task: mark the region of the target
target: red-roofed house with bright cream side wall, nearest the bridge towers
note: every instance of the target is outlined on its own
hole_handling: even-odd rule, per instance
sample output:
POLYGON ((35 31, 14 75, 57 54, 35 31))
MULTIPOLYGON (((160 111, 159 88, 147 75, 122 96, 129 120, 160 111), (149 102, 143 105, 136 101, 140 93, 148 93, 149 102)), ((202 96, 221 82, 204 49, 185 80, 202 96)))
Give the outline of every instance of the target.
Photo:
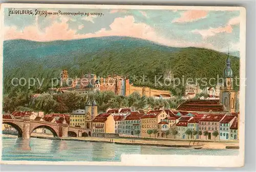
POLYGON ((111 113, 101 113, 92 122, 94 137, 103 137, 105 133, 115 133, 115 120, 111 113))

